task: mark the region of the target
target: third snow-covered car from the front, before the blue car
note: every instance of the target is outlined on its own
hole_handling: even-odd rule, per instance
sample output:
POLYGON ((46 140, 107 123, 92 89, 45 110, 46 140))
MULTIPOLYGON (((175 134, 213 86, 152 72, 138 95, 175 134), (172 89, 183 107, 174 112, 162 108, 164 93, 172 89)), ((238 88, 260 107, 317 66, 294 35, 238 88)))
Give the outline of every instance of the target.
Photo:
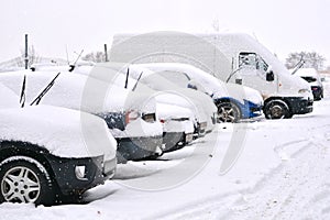
MULTIPOLYGON (((106 64, 107 66, 78 66, 73 72, 74 74, 85 75, 90 78, 100 79, 107 81, 108 84, 114 84, 117 86, 121 86, 128 89, 133 90, 136 80, 130 77, 130 74, 127 74, 128 69, 121 69, 120 64, 106 64), (124 72, 124 73, 123 73, 124 72)), ((177 150, 193 140, 191 138, 196 138, 196 135, 191 132, 191 127, 188 124, 193 124, 195 122, 195 114, 191 112, 191 108, 187 105, 187 100, 180 97, 177 92, 160 92, 155 91, 146 86, 141 89, 142 86, 139 86, 139 92, 147 94, 157 102, 157 119, 163 124, 163 151, 168 152, 173 150, 177 150), (177 105, 179 103, 179 105, 177 105), (185 105, 186 103, 186 105, 185 105), (163 108, 163 107, 172 106, 172 108, 163 108), (176 109, 176 110, 173 110, 176 109), (184 112, 186 112, 186 114, 184 112), (173 127, 173 124, 177 124, 173 127)), ((206 123, 200 123, 201 125, 197 130, 199 134, 205 133, 205 128, 202 127, 206 123)))

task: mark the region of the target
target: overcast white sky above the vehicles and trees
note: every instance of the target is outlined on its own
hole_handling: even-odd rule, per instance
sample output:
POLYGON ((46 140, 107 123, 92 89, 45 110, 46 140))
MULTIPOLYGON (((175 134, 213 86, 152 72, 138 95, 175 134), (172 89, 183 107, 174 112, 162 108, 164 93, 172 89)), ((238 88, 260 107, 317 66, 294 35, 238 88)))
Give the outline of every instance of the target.
POLYGON ((65 58, 67 45, 73 58, 102 51, 114 33, 210 32, 216 19, 280 59, 315 51, 330 65, 330 0, 2 0, 0 62, 20 54, 25 33, 38 55, 65 58))

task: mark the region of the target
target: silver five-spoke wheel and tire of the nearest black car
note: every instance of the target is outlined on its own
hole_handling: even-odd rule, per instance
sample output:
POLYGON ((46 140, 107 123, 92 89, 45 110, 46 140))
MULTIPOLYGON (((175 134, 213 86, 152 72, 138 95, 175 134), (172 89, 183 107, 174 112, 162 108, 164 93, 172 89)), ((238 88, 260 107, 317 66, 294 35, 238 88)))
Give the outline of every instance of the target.
POLYGON ((55 186, 45 167, 34 158, 12 156, 0 163, 0 202, 51 206, 55 186))

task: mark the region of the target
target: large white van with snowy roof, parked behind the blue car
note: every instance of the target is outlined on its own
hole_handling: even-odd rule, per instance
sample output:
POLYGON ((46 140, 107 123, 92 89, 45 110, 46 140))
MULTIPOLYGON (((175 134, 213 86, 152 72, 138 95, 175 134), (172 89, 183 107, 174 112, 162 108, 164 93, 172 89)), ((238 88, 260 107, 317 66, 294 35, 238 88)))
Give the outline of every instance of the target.
POLYGON ((267 119, 312 111, 310 86, 248 34, 155 32, 114 35, 111 62, 187 63, 227 82, 258 90, 267 119))

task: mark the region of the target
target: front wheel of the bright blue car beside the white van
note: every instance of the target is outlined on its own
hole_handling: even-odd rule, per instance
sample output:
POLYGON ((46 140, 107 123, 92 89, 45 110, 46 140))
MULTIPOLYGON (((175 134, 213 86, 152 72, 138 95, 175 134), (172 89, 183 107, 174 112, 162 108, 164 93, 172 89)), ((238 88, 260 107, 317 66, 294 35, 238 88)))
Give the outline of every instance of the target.
POLYGON ((241 119, 240 109, 232 102, 220 102, 217 105, 218 118, 217 122, 229 122, 234 123, 241 119))

